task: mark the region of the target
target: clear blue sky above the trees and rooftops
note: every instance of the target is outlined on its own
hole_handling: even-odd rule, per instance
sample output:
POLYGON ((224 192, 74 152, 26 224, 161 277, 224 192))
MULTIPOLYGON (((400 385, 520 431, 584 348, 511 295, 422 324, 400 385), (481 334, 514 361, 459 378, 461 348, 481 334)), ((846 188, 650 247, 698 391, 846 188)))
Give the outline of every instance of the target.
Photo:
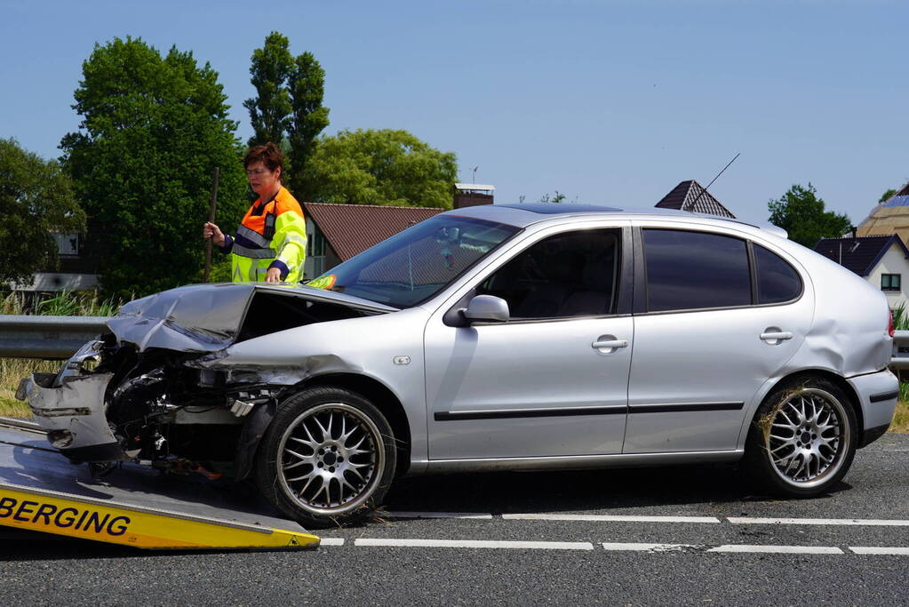
POLYGON ((0 0, 0 137, 45 157, 74 131, 81 65, 132 35, 209 62, 251 134, 253 50, 277 30, 325 68, 329 133, 403 128, 496 202, 558 190, 652 206, 706 185, 748 221, 811 182, 855 224, 909 180, 904 0, 239 3, 0 0))

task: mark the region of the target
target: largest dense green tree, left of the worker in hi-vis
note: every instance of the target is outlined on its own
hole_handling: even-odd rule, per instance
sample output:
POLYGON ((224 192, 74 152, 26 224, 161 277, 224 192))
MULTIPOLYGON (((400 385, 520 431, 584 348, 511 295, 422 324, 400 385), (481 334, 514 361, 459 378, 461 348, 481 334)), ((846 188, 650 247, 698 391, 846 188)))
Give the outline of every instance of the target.
POLYGON ((101 252, 108 294, 149 294, 199 280, 201 226, 215 166, 218 217, 245 211, 236 123, 217 73, 192 53, 162 56, 141 39, 95 45, 75 90, 80 130, 60 147, 101 252))

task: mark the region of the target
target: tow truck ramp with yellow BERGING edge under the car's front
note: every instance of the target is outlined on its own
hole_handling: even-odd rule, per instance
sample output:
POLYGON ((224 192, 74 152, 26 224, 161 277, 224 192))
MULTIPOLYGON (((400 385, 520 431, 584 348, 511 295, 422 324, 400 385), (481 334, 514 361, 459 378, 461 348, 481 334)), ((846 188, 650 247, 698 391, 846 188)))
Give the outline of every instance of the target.
POLYGON ((0 525, 149 549, 300 549, 319 538, 205 479, 125 465, 103 479, 47 447, 33 423, 0 418, 0 525))

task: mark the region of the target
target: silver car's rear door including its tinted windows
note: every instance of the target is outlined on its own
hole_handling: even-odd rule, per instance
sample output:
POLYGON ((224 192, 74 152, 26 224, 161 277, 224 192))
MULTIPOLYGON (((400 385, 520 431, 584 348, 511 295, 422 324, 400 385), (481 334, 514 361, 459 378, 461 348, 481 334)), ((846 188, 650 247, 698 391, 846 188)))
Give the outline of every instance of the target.
POLYGON ((734 450, 814 311, 793 264, 743 236, 644 225, 624 453, 734 450))

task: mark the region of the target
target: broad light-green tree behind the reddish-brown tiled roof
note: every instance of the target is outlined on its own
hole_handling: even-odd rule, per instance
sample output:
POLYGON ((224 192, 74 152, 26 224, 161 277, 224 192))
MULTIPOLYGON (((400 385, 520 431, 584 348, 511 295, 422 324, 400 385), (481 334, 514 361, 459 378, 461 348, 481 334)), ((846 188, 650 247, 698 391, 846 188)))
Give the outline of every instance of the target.
POLYGON ((319 140, 305 178, 315 202, 447 209, 457 160, 407 131, 345 130, 319 140))

